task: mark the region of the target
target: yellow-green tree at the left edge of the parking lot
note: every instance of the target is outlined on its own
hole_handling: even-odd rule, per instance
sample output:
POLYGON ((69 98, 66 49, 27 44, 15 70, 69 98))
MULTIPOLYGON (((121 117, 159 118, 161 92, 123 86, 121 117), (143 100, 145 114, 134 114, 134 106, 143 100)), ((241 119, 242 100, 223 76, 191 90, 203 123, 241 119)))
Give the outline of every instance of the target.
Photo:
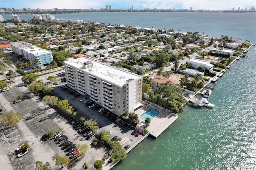
POLYGON ((22 120, 22 114, 20 112, 14 113, 13 110, 10 110, 6 113, 0 115, 1 125, 5 125, 5 127, 9 126, 16 126, 17 123, 20 123, 22 120))

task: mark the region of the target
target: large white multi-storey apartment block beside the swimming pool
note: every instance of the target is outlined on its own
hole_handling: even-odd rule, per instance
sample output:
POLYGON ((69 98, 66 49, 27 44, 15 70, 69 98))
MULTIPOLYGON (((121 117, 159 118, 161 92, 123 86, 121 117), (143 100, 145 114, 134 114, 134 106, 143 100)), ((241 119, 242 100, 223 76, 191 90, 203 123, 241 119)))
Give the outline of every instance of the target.
POLYGON ((122 116, 141 106, 142 76, 85 57, 64 61, 67 85, 122 116))

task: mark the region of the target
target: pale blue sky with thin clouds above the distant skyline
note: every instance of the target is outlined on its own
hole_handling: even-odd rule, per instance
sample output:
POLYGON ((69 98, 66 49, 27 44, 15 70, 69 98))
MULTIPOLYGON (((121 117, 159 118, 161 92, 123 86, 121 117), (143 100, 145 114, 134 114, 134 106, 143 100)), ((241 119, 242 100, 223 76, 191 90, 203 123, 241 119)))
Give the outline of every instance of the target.
POLYGON ((0 8, 31 9, 188 9, 232 10, 256 7, 256 0, 0 0, 0 8))

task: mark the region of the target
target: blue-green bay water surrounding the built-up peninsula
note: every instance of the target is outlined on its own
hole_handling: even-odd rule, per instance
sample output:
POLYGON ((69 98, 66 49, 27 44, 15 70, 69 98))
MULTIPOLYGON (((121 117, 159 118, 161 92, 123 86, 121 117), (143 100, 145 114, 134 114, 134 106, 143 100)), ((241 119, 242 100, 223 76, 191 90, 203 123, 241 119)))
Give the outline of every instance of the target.
MULTIPOLYGON (((210 37, 224 35, 256 43, 255 13, 78 13, 56 14, 55 18, 197 31, 210 37)), ((254 46, 248 57, 235 61, 217 81, 209 98, 216 107, 184 107, 165 132, 157 139, 146 138, 113 170, 256 169, 255 65, 254 46)))

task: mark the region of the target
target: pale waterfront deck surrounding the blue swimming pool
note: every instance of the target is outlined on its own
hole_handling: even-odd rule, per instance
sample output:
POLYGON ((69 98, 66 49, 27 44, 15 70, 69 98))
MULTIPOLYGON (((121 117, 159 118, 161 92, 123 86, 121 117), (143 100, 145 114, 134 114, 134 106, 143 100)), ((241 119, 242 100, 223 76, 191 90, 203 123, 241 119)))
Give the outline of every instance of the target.
POLYGON ((140 115, 142 115, 149 109, 157 109, 158 111, 160 111, 160 113, 150 121, 150 126, 146 128, 149 134, 154 136, 155 138, 157 138, 162 132, 164 132, 164 130, 166 130, 166 128, 174 123, 176 119, 178 119, 178 115, 172 113, 171 111, 155 105, 154 103, 145 101, 144 106, 135 111, 135 113, 139 115, 140 122, 144 122, 144 120, 141 119, 140 115))

